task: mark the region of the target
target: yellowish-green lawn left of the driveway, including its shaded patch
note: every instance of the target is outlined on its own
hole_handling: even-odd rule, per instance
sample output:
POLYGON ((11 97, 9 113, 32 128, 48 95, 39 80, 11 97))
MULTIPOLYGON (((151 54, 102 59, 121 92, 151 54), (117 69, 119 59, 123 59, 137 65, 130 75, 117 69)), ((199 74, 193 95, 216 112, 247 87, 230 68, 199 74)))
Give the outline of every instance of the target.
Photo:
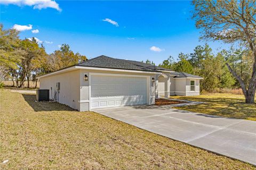
POLYGON ((255 169, 97 113, 0 92, 0 169, 255 169))

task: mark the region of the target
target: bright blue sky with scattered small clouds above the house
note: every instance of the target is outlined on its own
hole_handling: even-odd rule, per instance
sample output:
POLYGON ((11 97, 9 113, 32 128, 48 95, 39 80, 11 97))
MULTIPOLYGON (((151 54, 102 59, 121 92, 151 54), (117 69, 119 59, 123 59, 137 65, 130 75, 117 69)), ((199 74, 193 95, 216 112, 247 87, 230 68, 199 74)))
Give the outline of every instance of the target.
MULTIPOLYGON (((66 43, 88 58, 107 55, 159 64, 205 44, 198 40, 191 10, 190 1, 2 1, 1 23, 5 29, 17 24, 20 38, 38 38, 47 53, 66 43)), ((227 46, 209 44, 214 52, 227 46)))

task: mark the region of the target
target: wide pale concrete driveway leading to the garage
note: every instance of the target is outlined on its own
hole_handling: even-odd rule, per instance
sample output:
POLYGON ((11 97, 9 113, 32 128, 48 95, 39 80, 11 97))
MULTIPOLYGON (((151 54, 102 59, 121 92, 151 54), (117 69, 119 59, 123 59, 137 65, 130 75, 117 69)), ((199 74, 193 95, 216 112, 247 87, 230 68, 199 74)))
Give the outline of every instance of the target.
POLYGON ((94 112, 256 165, 254 121, 181 111, 170 106, 129 106, 94 112))

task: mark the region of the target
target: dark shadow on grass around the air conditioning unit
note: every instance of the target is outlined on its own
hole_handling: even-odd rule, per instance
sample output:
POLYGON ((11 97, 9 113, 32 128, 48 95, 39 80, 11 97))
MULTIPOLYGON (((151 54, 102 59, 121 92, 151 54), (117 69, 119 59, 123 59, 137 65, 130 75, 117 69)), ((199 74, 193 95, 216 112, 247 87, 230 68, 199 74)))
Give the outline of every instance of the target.
POLYGON ((27 101, 29 106, 31 106, 35 112, 42 111, 76 111, 69 106, 59 104, 52 101, 36 101, 36 95, 34 94, 22 94, 23 98, 27 101))

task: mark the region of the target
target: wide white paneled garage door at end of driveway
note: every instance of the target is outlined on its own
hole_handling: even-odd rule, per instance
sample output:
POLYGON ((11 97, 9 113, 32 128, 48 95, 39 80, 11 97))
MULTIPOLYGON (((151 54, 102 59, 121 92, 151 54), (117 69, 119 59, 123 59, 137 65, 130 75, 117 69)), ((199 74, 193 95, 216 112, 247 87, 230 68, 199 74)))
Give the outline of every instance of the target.
POLYGON ((91 109, 147 103, 147 78, 92 75, 91 109))

